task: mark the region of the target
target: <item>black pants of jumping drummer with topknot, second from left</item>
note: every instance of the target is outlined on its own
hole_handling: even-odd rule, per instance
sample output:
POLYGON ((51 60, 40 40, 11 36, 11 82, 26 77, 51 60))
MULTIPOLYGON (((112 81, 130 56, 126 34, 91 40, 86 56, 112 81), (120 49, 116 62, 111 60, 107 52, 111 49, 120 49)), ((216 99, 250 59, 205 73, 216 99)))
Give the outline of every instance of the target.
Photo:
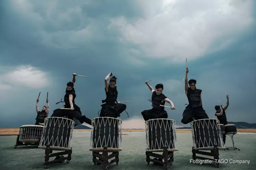
POLYGON ((117 118, 120 117, 120 114, 124 112, 126 109, 126 104, 123 103, 115 103, 114 105, 102 104, 100 117, 112 117, 117 118))

